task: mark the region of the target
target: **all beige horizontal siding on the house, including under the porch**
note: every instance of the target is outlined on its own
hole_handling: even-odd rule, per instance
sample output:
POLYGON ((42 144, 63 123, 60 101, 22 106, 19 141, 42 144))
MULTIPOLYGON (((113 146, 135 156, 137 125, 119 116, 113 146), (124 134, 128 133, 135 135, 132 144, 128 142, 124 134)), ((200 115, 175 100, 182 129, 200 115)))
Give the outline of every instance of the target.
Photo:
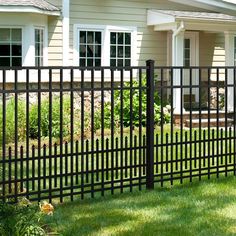
MULTIPOLYGON (((62 0, 50 0, 62 8, 62 0)), ((175 4, 166 0, 71 0, 70 6, 70 64, 73 64, 74 25, 113 25, 137 27, 138 64, 144 65, 154 59, 157 65, 167 65, 167 32, 155 32, 147 26, 147 9, 202 10, 175 4)), ((50 16, 49 25, 49 65, 62 65, 62 19, 50 16)), ((200 32, 200 66, 219 66, 225 64, 224 34, 200 32)), ((212 74, 214 78, 214 73, 212 74)), ((206 73, 204 78, 206 79, 206 73)))

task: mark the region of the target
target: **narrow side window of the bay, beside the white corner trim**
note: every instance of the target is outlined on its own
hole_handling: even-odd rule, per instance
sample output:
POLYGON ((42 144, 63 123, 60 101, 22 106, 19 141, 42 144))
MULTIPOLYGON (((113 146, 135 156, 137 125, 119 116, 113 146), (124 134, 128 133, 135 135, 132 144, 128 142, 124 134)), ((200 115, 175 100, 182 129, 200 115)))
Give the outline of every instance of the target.
POLYGON ((35 66, 43 66, 43 29, 35 29, 35 66))

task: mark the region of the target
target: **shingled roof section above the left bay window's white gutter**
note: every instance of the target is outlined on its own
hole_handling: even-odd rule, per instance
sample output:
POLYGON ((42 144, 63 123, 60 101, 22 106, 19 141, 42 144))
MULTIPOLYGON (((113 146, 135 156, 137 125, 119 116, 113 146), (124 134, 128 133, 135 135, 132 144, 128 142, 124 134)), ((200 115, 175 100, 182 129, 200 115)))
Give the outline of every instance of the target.
POLYGON ((36 10, 42 11, 42 12, 48 12, 48 13, 59 13, 60 9, 56 6, 52 5, 51 3, 48 3, 45 0, 0 0, 0 8, 8 8, 9 10, 13 7, 19 7, 20 8, 26 7, 26 8, 34 8, 36 10))

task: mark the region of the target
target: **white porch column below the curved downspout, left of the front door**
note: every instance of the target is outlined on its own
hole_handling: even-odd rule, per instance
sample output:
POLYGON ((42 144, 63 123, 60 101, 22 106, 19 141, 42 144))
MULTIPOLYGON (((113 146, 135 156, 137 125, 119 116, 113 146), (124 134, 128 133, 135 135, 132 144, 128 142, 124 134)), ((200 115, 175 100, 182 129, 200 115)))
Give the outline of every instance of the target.
MULTIPOLYGON (((183 24, 173 31, 172 35, 172 66, 183 66, 184 64, 184 27, 183 24)), ((181 71, 174 69, 173 71, 173 85, 180 86, 181 83, 181 71)), ((180 114, 181 109, 181 88, 175 88, 173 90, 173 108, 175 114, 180 114)))

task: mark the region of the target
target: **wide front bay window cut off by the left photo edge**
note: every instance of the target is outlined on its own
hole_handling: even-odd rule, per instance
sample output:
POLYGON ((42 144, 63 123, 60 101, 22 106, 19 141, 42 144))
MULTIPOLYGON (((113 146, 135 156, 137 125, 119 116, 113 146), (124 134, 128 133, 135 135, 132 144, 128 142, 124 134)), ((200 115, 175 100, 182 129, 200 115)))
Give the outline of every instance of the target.
POLYGON ((22 66, 21 29, 0 28, 0 66, 22 66))

